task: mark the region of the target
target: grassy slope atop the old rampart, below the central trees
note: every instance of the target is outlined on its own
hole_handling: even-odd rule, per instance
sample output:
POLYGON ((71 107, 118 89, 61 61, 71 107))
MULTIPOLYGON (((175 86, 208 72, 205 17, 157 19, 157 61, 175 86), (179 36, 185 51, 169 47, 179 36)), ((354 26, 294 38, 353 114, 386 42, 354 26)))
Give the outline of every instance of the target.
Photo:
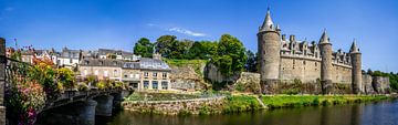
POLYGON ((177 59, 166 59, 167 64, 170 66, 192 66, 195 72, 200 76, 203 76, 201 66, 206 64, 207 60, 177 60, 177 59))

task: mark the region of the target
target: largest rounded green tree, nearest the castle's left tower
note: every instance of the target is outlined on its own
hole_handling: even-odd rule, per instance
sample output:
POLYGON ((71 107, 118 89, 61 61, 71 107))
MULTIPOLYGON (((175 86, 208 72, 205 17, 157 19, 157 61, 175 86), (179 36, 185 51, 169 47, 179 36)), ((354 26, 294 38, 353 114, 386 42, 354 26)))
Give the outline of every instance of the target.
POLYGON ((213 55, 211 62, 216 64, 223 75, 241 72, 247 62, 243 44, 230 34, 221 35, 218 43, 218 54, 213 55))

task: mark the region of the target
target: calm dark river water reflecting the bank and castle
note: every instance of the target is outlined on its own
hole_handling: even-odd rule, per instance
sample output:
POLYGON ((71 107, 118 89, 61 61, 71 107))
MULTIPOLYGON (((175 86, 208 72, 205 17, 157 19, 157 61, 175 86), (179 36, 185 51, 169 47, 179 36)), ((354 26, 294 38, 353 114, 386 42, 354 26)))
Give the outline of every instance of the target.
POLYGON ((398 125, 398 101, 279 108, 228 115, 165 116, 119 112, 97 125, 398 125))

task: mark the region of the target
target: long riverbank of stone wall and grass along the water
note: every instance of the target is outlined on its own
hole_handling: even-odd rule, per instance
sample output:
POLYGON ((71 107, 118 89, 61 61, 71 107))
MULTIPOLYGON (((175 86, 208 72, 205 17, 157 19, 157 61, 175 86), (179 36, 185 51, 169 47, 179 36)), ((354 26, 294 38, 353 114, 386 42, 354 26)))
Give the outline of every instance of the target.
MULTIPOLYGON (((137 95, 135 95, 137 96, 137 95)), ((179 95, 181 96, 181 95, 179 95)), ((391 98, 386 95, 228 95, 175 101, 125 101, 124 110, 165 115, 209 115, 266 108, 327 106, 391 98)))

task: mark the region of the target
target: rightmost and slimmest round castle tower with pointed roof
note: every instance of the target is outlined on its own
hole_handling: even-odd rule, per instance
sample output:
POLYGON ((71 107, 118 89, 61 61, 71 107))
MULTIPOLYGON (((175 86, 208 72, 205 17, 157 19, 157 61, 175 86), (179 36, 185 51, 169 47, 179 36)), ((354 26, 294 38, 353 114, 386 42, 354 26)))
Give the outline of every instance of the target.
POLYGON ((359 49, 356 45, 356 41, 354 39, 353 45, 349 50, 349 55, 352 59, 352 85, 353 85, 353 93, 358 94, 363 90, 360 90, 362 86, 362 53, 359 52, 359 49))

